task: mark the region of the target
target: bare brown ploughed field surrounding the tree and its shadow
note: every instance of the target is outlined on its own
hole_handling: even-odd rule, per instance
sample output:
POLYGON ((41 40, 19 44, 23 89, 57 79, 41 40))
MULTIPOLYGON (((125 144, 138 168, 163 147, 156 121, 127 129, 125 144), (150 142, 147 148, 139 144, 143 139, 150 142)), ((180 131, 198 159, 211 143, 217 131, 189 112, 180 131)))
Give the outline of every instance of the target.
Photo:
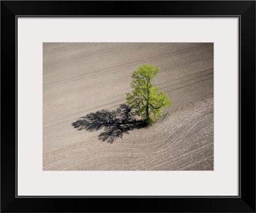
POLYGON ((43 75, 43 170, 214 170, 213 43, 44 43, 43 75), (125 104, 143 64, 173 100, 158 123, 113 143, 72 126, 125 104))

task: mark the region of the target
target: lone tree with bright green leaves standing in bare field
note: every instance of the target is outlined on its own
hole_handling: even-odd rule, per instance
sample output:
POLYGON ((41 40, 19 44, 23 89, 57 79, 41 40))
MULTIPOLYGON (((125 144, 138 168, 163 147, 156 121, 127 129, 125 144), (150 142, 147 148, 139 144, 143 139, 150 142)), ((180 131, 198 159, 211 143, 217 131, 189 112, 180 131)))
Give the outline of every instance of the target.
POLYGON ((171 107, 172 100, 162 90, 152 84, 159 68, 143 65, 135 70, 131 77, 132 93, 126 93, 127 104, 135 109, 143 120, 149 124, 161 117, 164 107, 171 107))

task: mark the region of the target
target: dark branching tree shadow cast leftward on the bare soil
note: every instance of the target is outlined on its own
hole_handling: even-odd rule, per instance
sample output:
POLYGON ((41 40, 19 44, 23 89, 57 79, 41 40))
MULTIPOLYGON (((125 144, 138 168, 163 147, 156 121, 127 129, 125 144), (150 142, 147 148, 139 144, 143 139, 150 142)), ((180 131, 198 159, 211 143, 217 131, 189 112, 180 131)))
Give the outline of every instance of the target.
POLYGON ((72 126, 77 130, 94 132, 103 129, 99 134, 101 141, 113 143, 116 138, 129 134, 129 130, 146 127, 146 123, 137 120, 132 109, 126 104, 121 104, 117 109, 109 111, 102 109, 96 113, 89 113, 79 118, 72 126))

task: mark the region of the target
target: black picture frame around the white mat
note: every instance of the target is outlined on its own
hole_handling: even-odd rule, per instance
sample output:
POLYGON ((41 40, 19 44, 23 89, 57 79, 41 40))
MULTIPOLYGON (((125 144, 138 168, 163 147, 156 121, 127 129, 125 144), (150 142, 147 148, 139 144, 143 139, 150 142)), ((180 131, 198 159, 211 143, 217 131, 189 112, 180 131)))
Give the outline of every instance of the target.
POLYGON ((255 1, 1 1, 1 212, 255 212, 255 1), (17 196, 19 16, 239 17, 239 196, 17 196))

